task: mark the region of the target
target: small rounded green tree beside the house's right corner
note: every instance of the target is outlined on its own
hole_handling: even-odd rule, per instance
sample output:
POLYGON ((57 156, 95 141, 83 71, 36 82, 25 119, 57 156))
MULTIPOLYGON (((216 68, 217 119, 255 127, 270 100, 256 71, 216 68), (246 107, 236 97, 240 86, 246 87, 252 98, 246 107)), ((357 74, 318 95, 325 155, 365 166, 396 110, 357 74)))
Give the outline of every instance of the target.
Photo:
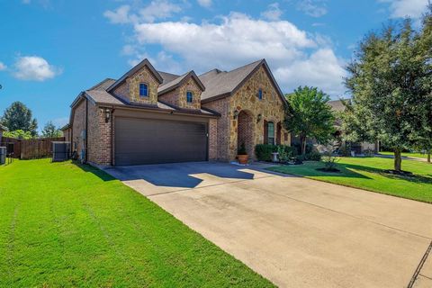
POLYGON ((332 138, 335 118, 328 104, 328 94, 316 87, 300 86, 293 94, 288 94, 288 108, 284 121, 285 128, 302 143, 302 155, 306 154, 308 139, 326 143, 332 138))

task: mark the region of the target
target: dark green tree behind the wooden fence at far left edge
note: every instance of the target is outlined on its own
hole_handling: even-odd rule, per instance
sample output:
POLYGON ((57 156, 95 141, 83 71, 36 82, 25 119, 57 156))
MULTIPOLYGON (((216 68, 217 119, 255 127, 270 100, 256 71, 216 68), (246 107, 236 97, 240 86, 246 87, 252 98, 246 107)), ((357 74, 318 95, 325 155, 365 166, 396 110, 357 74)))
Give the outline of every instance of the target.
POLYGON ((10 131, 29 131, 31 132, 31 136, 36 136, 38 134, 38 121, 31 117, 31 110, 19 101, 12 103, 9 108, 4 111, 0 122, 10 131))

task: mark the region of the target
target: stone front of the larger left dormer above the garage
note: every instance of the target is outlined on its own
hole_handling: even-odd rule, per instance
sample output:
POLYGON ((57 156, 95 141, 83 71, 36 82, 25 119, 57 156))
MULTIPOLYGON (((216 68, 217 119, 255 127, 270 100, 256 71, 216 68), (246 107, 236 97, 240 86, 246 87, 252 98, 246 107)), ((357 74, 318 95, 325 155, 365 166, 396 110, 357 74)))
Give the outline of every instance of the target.
POLYGON ((157 78, 148 67, 142 67, 138 72, 126 78, 125 82, 114 89, 113 94, 130 103, 157 104, 157 78), (139 84, 148 85, 148 96, 139 96, 139 84))

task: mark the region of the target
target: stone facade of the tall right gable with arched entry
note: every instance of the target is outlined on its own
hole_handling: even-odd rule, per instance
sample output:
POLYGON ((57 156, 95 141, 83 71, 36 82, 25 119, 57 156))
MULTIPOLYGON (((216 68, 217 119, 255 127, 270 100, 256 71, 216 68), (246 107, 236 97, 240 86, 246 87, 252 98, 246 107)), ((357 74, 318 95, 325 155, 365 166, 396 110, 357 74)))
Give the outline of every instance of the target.
MULTIPOLYGON (((239 119, 234 119, 235 111, 239 112, 238 115, 245 111, 252 116, 252 121, 245 123, 248 126, 247 129, 252 130, 252 136, 249 136, 253 139, 252 142, 245 143, 249 157, 252 159, 255 158, 253 152, 255 146, 265 142, 265 121, 275 123, 275 139, 277 123, 282 124, 284 121, 284 103, 263 66, 259 67, 257 72, 250 76, 234 95, 204 103, 202 106, 221 114, 218 120, 218 159, 224 161, 234 160, 237 157, 238 144, 241 144, 238 143, 239 119), (263 91, 262 100, 257 97, 259 89, 263 91), (261 114, 260 121, 257 119, 259 114, 261 114)), ((280 141, 283 145, 291 144, 289 133, 284 128, 281 129, 280 141)))

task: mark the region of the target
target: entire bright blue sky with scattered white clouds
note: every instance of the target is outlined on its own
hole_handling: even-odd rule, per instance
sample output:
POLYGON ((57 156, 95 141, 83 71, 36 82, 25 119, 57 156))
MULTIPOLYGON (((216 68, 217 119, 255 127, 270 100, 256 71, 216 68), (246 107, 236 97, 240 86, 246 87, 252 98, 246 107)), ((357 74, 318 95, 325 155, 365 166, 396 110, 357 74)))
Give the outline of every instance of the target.
POLYGON ((358 42, 383 23, 419 21, 428 0, 0 0, 0 115, 14 101, 67 123, 70 103, 141 59, 201 74, 266 58, 284 93, 347 98, 358 42))

